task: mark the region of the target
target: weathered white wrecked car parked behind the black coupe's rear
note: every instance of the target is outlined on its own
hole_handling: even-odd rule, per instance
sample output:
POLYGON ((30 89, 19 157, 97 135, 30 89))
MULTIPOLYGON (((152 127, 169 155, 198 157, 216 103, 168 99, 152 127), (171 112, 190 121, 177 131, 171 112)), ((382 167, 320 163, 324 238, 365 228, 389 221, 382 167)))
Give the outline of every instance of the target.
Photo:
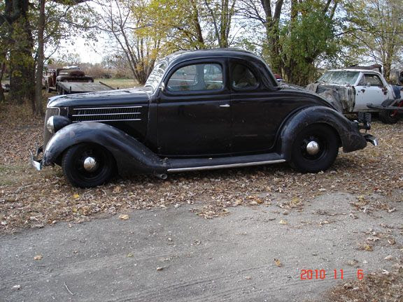
POLYGON ((397 122, 402 112, 402 85, 389 85, 379 71, 365 67, 326 71, 306 89, 323 96, 341 113, 379 113, 386 124, 397 122))

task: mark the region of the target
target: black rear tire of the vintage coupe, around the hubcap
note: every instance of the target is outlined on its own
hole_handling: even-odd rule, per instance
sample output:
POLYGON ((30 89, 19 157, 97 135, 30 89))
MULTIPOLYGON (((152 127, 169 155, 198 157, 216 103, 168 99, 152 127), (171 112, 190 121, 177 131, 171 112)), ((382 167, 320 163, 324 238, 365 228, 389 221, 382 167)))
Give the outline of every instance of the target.
POLYGON ((325 124, 311 124, 302 129, 292 144, 290 165, 302 173, 318 173, 332 166, 339 153, 339 136, 325 124), (315 141, 318 153, 309 154, 306 146, 315 141))

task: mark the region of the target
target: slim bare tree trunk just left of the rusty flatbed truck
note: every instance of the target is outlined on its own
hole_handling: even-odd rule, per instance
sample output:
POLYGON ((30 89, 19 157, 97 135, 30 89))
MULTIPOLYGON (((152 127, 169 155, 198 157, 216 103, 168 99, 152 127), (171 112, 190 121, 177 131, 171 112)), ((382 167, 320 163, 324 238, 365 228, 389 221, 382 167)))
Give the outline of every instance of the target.
POLYGON ((42 75, 43 75, 43 31, 45 31, 45 0, 39 0, 38 20, 38 56, 35 78, 35 106, 36 115, 43 116, 42 75))

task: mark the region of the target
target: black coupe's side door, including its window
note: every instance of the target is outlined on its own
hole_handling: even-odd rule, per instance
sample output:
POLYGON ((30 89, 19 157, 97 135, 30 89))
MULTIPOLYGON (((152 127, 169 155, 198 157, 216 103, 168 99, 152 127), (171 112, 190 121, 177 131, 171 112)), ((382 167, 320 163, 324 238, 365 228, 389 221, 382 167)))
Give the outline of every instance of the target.
POLYGON ((192 60, 176 65, 158 99, 158 150, 167 157, 231 152, 227 59, 192 60))

